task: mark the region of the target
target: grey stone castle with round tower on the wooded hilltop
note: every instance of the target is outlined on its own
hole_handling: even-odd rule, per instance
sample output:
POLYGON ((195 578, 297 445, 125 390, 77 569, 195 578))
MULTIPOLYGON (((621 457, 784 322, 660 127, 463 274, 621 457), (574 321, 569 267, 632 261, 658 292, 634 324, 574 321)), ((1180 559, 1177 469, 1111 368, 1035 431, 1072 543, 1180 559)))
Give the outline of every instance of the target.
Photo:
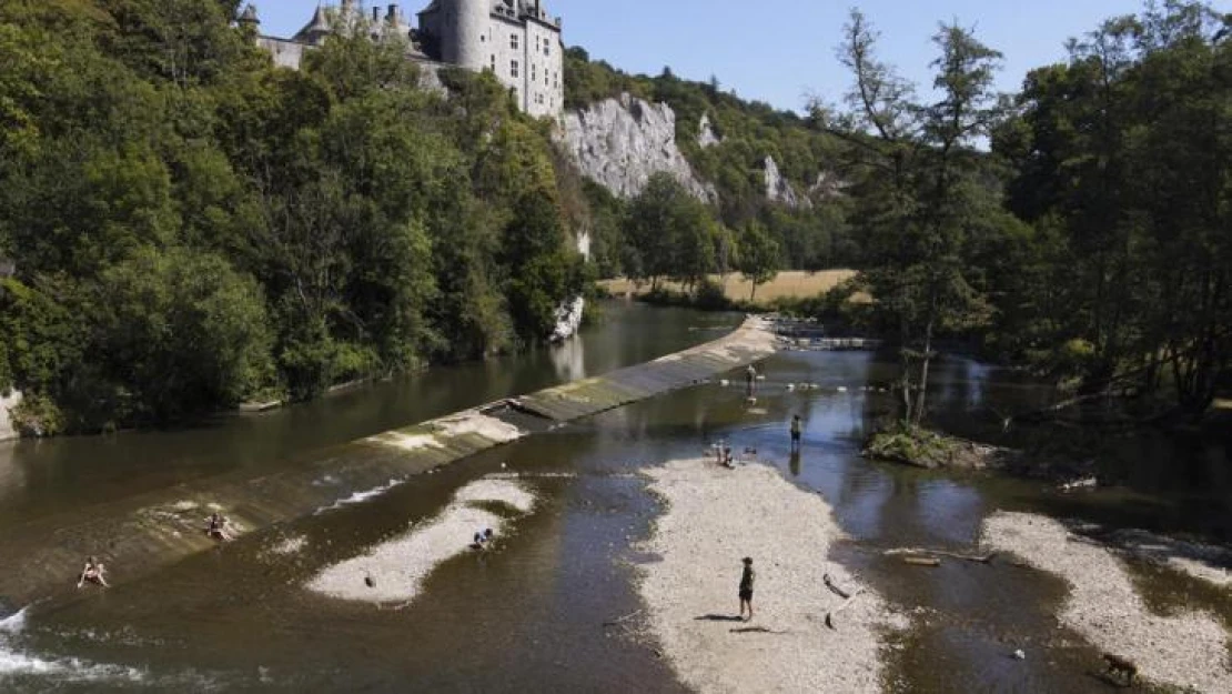
MULTIPOLYGON (((239 20, 259 28, 249 5, 239 20)), ((432 0, 413 28, 398 5, 367 12, 355 0, 333 9, 317 6, 312 20, 291 38, 261 36, 257 44, 277 65, 298 69, 306 51, 339 31, 359 27, 381 41, 408 42, 408 59, 435 73, 441 65, 490 70, 531 116, 559 116, 564 108, 564 44, 561 18, 541 0, 432 0)))

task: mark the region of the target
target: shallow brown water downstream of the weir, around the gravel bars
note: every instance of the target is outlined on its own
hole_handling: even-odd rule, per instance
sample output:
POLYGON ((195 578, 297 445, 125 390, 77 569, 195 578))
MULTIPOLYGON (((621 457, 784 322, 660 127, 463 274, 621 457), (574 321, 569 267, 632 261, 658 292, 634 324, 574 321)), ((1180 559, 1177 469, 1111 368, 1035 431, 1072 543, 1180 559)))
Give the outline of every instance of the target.
MULTIPOLYGON (((1195 531, 1206 521, 1177 499, 1198 492, 1172 478, 1152 491, 1146 481, 1159 477, 1143 473, 1133 492, 1062 497, 1037 482, 865 461, 862 440, 894 407, 888 393, 865 387, 892 380, 894 370, 869 354, 781 354, 763 365, 766 380, 752 408, 733 378, 732 387, 705 385, 609 412, 99 593, 44 615, 22 646, 144 673, 144 683, 106 680, 118 689, 182 690, 191 677, 202 689, 260 692, 684 692, 654 643, 639 636, 638 565, 655 557, 638 542, 662 508, 638 471, 724 441, 738 455, 756 450, 748 457, 824 496, 850 540, 818 561, 850 567, 910 619, 888 653, 890 690, 1101 690, 1099 653, 1057 626, 1066 595, 1060 579, 999 560, 909 567, 885 550, 970 550, 984 518, 1003 508, 1195 531), (787 388, 801 382, 822 387, 787 388), (787 435, 795 413, 804 420, 798 452, 787 435), (492 475, 533 491, 535 512, 510 525, 498 551, 440 566, 409 605, 339 603, 303 589, 320 567, 407 533, 460 487, 492 475), (301 549, 280 553, 288 540, 301 549), (1016 650, 1026 659, 1011 657, 1016 650)), ((934 407, 951 419, 972 407, 1044 397, 965 361, 940 365, 936 383, 934 407)), ((1220 493, 1227 488, 1201 496, 1227 504, 1220 493)), ((469 531, 458 542, 469 542, 469 531)), ((1167 595, 1165 586, 1177 586, 1170 573, 1135 568, 1135 577, 1158 609, 1191 603, 1225 619, 1232 613, 1196 584, 1181 584, 1183 598, 1167 595)), ((719 611, 695 619, 739 621, 719 611)), ((760 629, 733 624, 732 632, 760 629)), ((46 684, 34 678, 10 689, 46 684)), ((64 685, 74 688, 90 690, 64 685)))

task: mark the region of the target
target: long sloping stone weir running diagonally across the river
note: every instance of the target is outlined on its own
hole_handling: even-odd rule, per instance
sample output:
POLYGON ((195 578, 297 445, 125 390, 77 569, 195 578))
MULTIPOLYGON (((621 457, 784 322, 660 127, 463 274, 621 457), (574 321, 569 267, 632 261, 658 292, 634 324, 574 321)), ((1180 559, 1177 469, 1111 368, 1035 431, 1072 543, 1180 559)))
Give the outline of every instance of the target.
POLYGON ((509 398, 404 429, 326 449, 290 470, 184 483, 14 528, 0 536, 0 600, 63 604, 86 557, 122 583, 209 550, 203 519, 223 513, 244 534, 354 499, 355 489, 392 488, 416 475, 601 412, 705 382, 775 351, 768 322, 749 318, 733 333, 611 374, 509 398))

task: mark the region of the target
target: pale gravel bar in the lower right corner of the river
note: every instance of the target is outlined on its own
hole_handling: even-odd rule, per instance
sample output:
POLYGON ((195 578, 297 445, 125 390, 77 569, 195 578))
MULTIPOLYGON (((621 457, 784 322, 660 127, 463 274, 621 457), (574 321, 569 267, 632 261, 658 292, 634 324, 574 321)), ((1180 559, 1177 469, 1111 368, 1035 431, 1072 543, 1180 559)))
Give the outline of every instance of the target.
POLYGON ((1230 634, 1207 613, 1151 611, 1108 547, 1042 515, 998 513, 984 523, 987 549, 1010 552, 1069 584, 1060 621, 1096 647, 1127 658, 1152 682, 1194 692, 1232 692, 1230 634))

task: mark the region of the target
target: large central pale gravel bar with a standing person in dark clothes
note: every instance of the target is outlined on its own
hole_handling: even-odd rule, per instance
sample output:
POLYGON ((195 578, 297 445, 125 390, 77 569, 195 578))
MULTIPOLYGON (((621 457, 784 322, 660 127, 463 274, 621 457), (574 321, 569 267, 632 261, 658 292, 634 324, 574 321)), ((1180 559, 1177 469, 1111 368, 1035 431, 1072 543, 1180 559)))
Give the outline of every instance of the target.
POLYGON ((680 679, 702 692, 881 692, 885 636, 906 623, 844 567, 827 561, 843 537, 830 507, 760 465, 711 460, 646 472, 668 508, 646 550, 649 627, 680 679), (738 614, 740 560, 756 569, 755 618, 738 614), (825 626, 846 592, 864 588, 825 626))

